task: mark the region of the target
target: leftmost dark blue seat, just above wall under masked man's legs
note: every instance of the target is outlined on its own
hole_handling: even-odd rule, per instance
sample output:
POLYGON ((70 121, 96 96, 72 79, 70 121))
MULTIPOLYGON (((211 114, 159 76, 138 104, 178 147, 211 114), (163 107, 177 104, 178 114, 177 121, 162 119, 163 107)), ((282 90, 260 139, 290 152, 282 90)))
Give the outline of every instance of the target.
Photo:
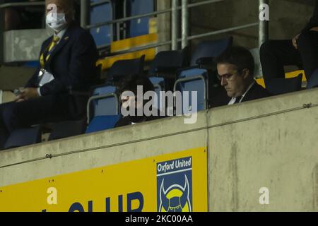
POLYGON ((13 131, 4 145, 5 149, 18 148, 41 142, 41 127, 35 126, 28 129, 13 131))

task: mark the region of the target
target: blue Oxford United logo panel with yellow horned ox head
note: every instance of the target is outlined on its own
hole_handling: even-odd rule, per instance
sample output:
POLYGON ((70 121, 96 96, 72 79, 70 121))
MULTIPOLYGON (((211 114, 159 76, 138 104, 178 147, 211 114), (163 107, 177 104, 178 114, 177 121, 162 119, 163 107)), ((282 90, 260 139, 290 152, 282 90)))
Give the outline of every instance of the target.
POLYGON ((192 157, 157 164, 158 212, 192 212, 192 157))

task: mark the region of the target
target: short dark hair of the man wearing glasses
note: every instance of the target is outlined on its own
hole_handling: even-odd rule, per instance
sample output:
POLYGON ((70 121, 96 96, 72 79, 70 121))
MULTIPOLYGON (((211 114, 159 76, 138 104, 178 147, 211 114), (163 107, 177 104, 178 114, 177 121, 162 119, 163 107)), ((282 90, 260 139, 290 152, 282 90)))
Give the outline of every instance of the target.
POLYGON ((254 58, 244 47, 229 47, 214 60, 216 64, 234 64, 238 71, 249 69, 249 75, 254 77, 254 58))

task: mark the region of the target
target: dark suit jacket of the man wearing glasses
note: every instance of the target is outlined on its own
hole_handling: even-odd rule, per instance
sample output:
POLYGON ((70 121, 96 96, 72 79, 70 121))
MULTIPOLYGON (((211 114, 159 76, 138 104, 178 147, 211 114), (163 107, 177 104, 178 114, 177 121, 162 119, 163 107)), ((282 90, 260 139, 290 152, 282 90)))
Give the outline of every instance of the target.
MULTIPOLYGON (((255 82, 252 88, 250 88, 249 91, 246 93, 242 102, 247 102, 249 100, 257 100, 269 96, 271 96, 271 94, 261 85, 255 82)), ((218 90, 218 94, 215 97, 211 97, 211 100, 209 101, 209 107, 220 107, 228 105, 231 99, 232 97, 228 97, 225 89, 221 87, 220 90, 218 90)))

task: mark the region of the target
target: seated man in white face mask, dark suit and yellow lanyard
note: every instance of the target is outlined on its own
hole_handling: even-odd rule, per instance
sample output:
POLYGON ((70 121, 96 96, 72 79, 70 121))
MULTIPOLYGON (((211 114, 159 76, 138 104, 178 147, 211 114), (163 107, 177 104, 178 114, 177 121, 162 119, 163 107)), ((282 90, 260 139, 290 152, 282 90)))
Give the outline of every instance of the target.
POLYGON ((0 105, 0 149, 16 129, 82 117, 86 102, 69 90, 88 90, 98 59, 93 37, 73 21, 72 0, 47 0, 46 22, 54 35, 45 40, 40 65, 15 102, 0 105), (55 11, 55 12, 54 12, 55 11), (78 105, 77 105, 78 104, 78 105))

